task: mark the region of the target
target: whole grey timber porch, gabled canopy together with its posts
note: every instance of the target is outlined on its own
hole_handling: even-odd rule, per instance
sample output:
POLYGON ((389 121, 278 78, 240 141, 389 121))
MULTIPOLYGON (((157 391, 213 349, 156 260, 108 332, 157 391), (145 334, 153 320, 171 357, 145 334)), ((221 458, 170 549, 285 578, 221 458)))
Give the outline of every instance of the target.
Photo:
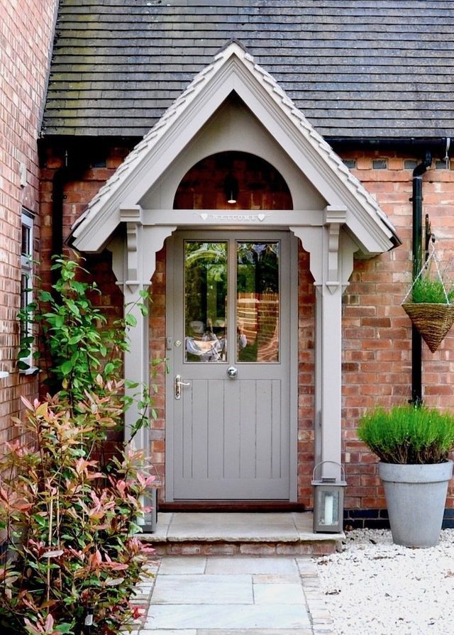
MULTIPOLYGON (((150 285, 155 254, 177 228, 287 229, 310 254, 316 287, 316 460, 341 458, 341 297, 353 255, 371 258, 399 244, 392 223, 275 79, 236 41, 194 77, 74 223, 71 244, 107 248, 133 305, 150 285), (292 210, 173 209, 175 192, 199 160, 247 152, 276 167, 292 210)), ((131 304, 132 303, 132 304, 131 304)), ((149 382, 148 322, 137 311, 125 376, 149 382)), ((126 434, 137 410, 126 415, 126 434)), ((138 443, 148 446, 146 431, 138 443)), ((325 475, 338 475, 333 464, 325 475)))

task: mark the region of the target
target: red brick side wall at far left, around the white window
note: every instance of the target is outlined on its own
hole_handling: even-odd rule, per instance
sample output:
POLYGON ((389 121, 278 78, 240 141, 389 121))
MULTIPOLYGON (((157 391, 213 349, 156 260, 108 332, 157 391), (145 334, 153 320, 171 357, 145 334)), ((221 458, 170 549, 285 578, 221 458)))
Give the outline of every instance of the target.
MULTIPOLYGON (((1 3, 0 19, 0 444, 14 434, 11 415, 20 396, 36 394, 37 380, 16 370, 21 280, 21 209, 38 215, 36 140, 48 74, 57 0, 1 3), (26 167, 21 186, 20 164, 26 167)), ((35 220, 35 248, 39 241, 35 220)))

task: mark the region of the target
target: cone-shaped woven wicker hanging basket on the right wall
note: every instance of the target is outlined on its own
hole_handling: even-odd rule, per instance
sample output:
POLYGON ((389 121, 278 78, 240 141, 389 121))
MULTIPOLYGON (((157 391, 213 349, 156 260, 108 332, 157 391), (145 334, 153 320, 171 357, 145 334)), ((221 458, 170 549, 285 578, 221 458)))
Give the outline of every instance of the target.
POLYGON ((409 316, 432 353, 445 338, 454 322, 454 304, 404 302, 402 308, 409 316))

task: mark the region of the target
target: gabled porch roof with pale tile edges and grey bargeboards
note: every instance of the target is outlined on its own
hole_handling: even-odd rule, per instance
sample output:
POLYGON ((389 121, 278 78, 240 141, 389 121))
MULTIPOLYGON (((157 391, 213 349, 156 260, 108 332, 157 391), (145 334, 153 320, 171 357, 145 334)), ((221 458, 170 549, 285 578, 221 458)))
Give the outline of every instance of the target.
POLYGON ((236 41, 231 41, 194 77, 101 187, 74 223, 72 245, 87 252, 101 250, 121 223, 121 209, 140 204, 140 199, 232 92, 238 94, 282 152, 320 192, 327 206, 345 210, 345 226, 362 255, 382 253, 399 243, 392 223, 375 199, 275 79, 255 64, 236 41))

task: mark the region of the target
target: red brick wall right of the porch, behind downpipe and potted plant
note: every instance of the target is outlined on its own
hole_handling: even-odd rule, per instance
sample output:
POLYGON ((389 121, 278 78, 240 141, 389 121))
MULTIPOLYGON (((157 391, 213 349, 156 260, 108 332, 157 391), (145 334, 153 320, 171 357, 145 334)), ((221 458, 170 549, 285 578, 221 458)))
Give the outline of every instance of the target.
MULTIPOLYGON (((354 174, 397 228, 402 245, 372 260, 355 263, 343 310, 343 449, 347 468, 346 508, 384 508, 376 458, 357 440, 355 428, 365 409, 403 404, 411 398, 411 322, 400 306, 411 286, 412 172, 395 154, 350 153, 354 174), (383 158, 385 169, 373 169, 383 158)), ((429 214, 438 257, 454 273, 454 170, 434 162, 423 176, 423 222, 429 214), (437 169, 435 166, 441 169, 437 169)), ((436 353, 423 343, 423 399, 454 409, 454 331, 436 353)), ((454 490, 449 507, 454 507, 454 490)))

